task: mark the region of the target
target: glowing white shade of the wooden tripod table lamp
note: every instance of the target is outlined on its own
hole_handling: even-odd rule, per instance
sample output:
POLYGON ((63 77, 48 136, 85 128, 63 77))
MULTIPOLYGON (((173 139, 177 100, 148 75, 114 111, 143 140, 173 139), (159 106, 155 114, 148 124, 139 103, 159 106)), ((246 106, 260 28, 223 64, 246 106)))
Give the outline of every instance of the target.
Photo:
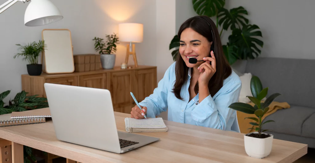
POLYGON ((143 41, 143 24, 121 23, 118 25, 119 41, 141 43, 143 41))

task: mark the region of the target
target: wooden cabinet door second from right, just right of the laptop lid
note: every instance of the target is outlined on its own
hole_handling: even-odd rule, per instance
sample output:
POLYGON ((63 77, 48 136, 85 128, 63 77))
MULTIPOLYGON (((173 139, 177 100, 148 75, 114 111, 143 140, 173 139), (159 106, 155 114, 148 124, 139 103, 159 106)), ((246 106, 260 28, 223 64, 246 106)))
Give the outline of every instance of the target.
POLYGON ((131 112, 131 71, 109 73, 109 91, 112 96, 114 111, 130 114, 131 112))

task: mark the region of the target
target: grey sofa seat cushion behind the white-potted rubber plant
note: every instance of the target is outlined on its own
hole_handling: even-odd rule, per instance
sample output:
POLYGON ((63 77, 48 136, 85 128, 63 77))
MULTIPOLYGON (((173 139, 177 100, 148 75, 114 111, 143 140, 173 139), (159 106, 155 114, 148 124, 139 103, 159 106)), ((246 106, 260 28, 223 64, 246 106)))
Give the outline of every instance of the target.
POLYGON ((291 105, 290 108, 278 110, 275 113, 267 116, 263 120, 263 122, 267 120, 274 120, 275 122, 269 122, 264 124, 262 126, 262 129, 263 130, 270 129, 278 133, 301 136, 302 125, 304 121, 306 121, 306 119, 308 119, 314 113, 315 108, 306 108, 291 105))

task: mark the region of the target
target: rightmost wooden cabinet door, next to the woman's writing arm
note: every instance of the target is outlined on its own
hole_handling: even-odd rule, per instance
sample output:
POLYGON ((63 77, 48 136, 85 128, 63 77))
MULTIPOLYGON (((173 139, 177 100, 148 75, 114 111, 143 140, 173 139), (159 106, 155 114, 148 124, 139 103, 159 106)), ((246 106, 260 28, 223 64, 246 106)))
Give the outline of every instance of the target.
POLYGON ((134 77, 134 94, 138 102, 153 93, 157 87, 156 69, 136 70, 134 77))

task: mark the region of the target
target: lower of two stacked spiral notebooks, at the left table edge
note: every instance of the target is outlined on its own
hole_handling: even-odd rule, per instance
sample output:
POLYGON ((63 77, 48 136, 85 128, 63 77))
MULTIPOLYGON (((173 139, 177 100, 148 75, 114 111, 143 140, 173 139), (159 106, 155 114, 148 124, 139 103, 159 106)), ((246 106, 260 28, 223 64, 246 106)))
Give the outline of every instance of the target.
POLYGON ((25 125, 34 123, 44 123, 45 118, 19 118, 11 119, 11 114, 0 115, 0 127, 3 126, 13 126, 13 125, 25 125))

